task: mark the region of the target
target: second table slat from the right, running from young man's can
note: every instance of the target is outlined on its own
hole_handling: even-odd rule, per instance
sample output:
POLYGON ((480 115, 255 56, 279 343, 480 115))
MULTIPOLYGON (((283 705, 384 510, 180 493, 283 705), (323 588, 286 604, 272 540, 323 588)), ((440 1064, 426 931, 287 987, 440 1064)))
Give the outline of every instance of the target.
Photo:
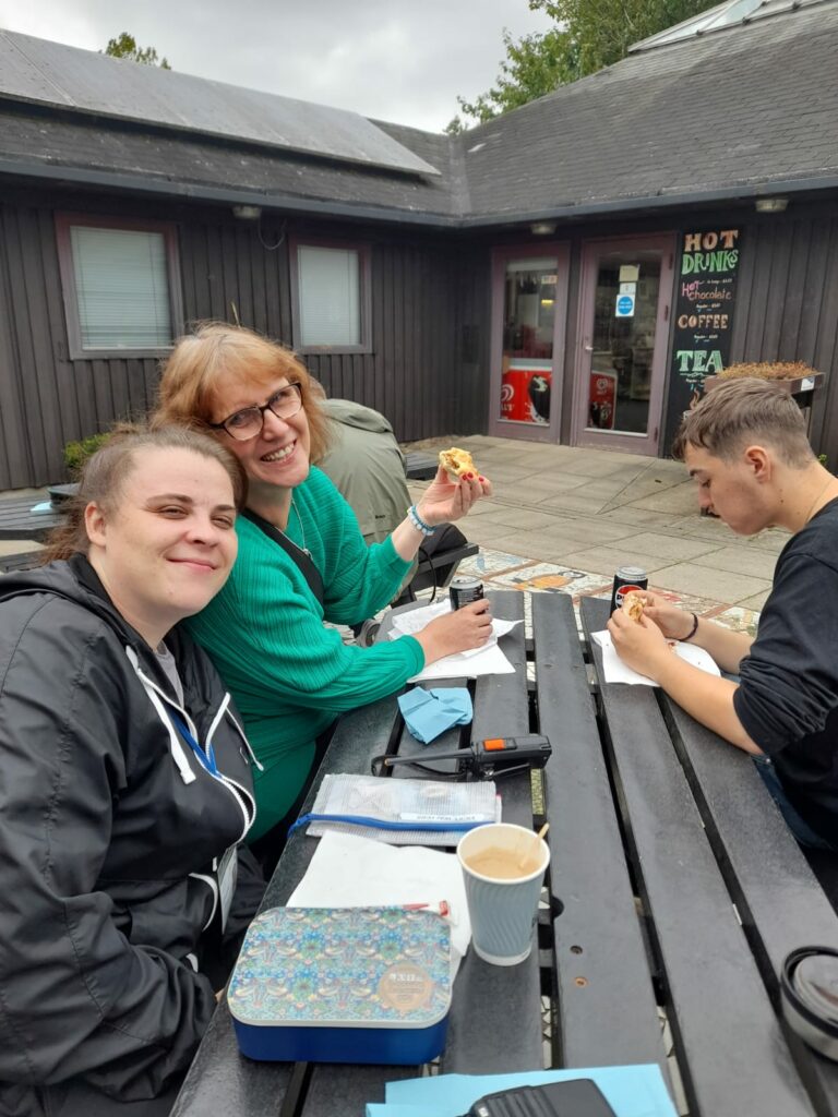
MULTIPOLYGON (((587 632, 607 602, 582 602, 587 632)), ((601 652, 592 649, 601 680, 601 652)), ((655 689, 600 681, 618 799, 669 992, 691 1114, 811 1114, 655 689)))

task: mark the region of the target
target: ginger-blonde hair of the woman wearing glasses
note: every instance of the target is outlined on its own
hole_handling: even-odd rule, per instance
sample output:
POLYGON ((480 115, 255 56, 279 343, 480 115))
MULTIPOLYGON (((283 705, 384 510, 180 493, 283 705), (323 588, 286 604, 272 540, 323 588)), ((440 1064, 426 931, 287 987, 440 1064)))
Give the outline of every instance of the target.
POLYGON ((328 422, 305 365, 284 345, 226 322, 199 323, 193 333, 180 338, 163 367, 152 423, 191 422, 208 428, 215 395, 222 383, 239 380, 270 388, 283 378, 299 384, 308 420, 311 459, 320 461, 328 448, 328 422))

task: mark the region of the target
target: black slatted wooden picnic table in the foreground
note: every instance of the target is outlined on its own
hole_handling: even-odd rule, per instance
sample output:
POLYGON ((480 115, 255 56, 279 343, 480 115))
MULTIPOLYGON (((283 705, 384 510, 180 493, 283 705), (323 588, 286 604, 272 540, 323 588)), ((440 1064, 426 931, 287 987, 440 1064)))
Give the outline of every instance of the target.
MULTIPOLYGON (((489 596, 495 615, 523 617, 524 593, 489 596)), ((838 1065, 785 1028, 778 997, 785 954, 838 944, 838 918, 759 773, 656 688, 602 681, 588 638, 604 626, 607 602, 582 602, 580 640, 569 596, 530 600, 532 638, 518 626, 503 640, 515 674, 470 684, 470 734, 453 729, 420 745, 396 699, 383 699, 341 718, 317 777, 366 774, 382 752, 421 753, 428 764, 469 736, 540 732, 552 742, 543 779, 497 781, 506 821, 550 821, 537 948, 508 968, 469 952, 439 1070, 656 1062, 676 1097, 680 1079, 693 1117, 838 1115, 838 1065)), ((265 907, 287 901, 315 844, 292 836, 265 907)), ((387 1081, 418 1073, 251 1062, 222 1003, 173 1117, 353 1117, 383 1100, 387 1081)))

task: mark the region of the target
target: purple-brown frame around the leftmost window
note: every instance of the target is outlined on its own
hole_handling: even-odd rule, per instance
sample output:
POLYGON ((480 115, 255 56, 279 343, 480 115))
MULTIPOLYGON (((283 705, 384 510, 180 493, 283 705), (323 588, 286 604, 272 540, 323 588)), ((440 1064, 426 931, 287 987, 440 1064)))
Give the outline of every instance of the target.
POLYGON ((183 305, 181 298, 180 256, 178 252, 178 231, 172 222, 145 221, 116 217, 97 217, 88 213, 56 213, 56 240, 58 244, 58 266, 61 276, 64 311, 67 323, 67 341, 70 360, 96 361, 114 357, 158 357, 170 353, 175 338, 183 332, 183 305), (159 232, 163 236, 166 257, 166 279, 169 284, 169 313, 171 318, 172 340, 166 345, 150 349, 115 345, 109 349, 85 347, 82 334, 82 322, 78 313, 78 295, 76 292, 76 274, 73 262, 73 228, 84 226, 92 229, 135 230, 137 232, 159 232))

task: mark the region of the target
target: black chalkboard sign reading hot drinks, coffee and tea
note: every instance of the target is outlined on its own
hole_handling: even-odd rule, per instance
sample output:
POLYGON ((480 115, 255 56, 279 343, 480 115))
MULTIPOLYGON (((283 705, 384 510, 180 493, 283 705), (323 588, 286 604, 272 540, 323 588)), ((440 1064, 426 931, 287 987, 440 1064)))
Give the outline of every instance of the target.
POLYGON ((683 413, 702 395, 704 378, 730 364, 740 232, 710 229, 684 233, 673 323, 667 443, 683 413))

